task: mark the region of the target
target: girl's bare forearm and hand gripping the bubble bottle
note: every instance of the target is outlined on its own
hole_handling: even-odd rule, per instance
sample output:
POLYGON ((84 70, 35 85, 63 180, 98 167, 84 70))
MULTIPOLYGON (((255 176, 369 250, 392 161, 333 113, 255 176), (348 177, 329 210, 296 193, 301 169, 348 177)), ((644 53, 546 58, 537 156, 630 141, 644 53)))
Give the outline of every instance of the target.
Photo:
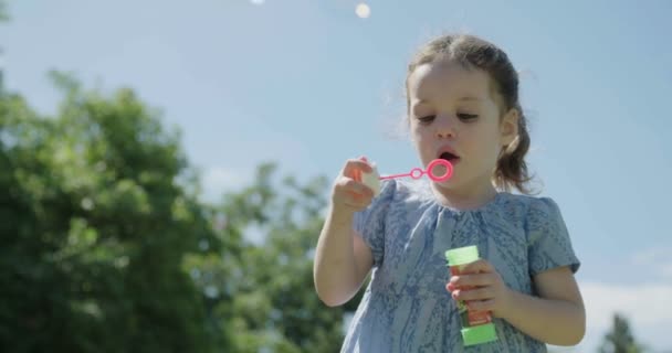
POLYGON ((534 276, 539 297, 514 291, 485 260, 469 265, 448 285, 458 300, 470 300, 470 310, 492 310, 534 339, 555 345, 575 345, 586 332, 586 311, 578 286, 568 267, 534 276), (460 290, 462 286, 477 286, 460 290), (471 301, 473 300, 473 301, 471 301))

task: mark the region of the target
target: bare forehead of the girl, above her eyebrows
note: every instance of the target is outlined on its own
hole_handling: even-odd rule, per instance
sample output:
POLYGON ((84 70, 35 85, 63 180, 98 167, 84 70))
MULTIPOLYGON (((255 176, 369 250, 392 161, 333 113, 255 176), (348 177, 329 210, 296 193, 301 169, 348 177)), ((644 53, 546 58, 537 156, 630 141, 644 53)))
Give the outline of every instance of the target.
POLYGON ((408 94, 416 100, 491 99, 490 77, 479 68, 468 68, 454 61, 419 65, 408 77, 408 94))

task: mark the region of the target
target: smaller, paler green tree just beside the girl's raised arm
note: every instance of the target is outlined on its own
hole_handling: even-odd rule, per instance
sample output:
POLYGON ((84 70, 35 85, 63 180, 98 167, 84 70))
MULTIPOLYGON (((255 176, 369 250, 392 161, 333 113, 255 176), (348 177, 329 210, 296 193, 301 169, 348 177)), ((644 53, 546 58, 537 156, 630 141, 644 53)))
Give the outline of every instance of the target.
POLYGON ((238 333, 232 352, 337 352, 343 314, 355 309, 361 292, 342 308, 328 308, 315 295, 313 254, 324 221, 326 180, 301 185, 292 176, 279 181, 275 170, 273 163, 261 165, 249 186, 223 196, 222 238, 241 247, 223 260, 195 256, 191 266, 210 279, 201 286, 223 288, 212 291, 212 307, 238 333), (262 243, 251 242, 250 234, 262 243))

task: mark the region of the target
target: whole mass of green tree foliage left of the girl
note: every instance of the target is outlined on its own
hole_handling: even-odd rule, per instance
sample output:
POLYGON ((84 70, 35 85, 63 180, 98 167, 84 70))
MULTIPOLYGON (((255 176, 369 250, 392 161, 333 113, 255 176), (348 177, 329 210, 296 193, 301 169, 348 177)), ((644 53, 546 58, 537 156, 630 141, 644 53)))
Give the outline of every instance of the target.
POLYGON ((339 350, 360 297, 314 291, 324 178, 263 164, 204 204, 179 132, 130 89, 51 76, 55 117, 0 97, 1 352, 339 350))

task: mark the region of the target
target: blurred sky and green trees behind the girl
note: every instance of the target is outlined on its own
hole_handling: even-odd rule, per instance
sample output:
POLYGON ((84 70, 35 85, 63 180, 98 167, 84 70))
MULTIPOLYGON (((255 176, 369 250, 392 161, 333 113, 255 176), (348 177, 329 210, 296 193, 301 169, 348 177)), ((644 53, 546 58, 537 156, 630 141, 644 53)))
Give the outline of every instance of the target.
POLYGON ((406 65, 445 32, 521 72, 585 340, 672 352, 672 2, 0 2, 0 351, 337 352, 313 248, 347 158, 418 159, 406 65))

